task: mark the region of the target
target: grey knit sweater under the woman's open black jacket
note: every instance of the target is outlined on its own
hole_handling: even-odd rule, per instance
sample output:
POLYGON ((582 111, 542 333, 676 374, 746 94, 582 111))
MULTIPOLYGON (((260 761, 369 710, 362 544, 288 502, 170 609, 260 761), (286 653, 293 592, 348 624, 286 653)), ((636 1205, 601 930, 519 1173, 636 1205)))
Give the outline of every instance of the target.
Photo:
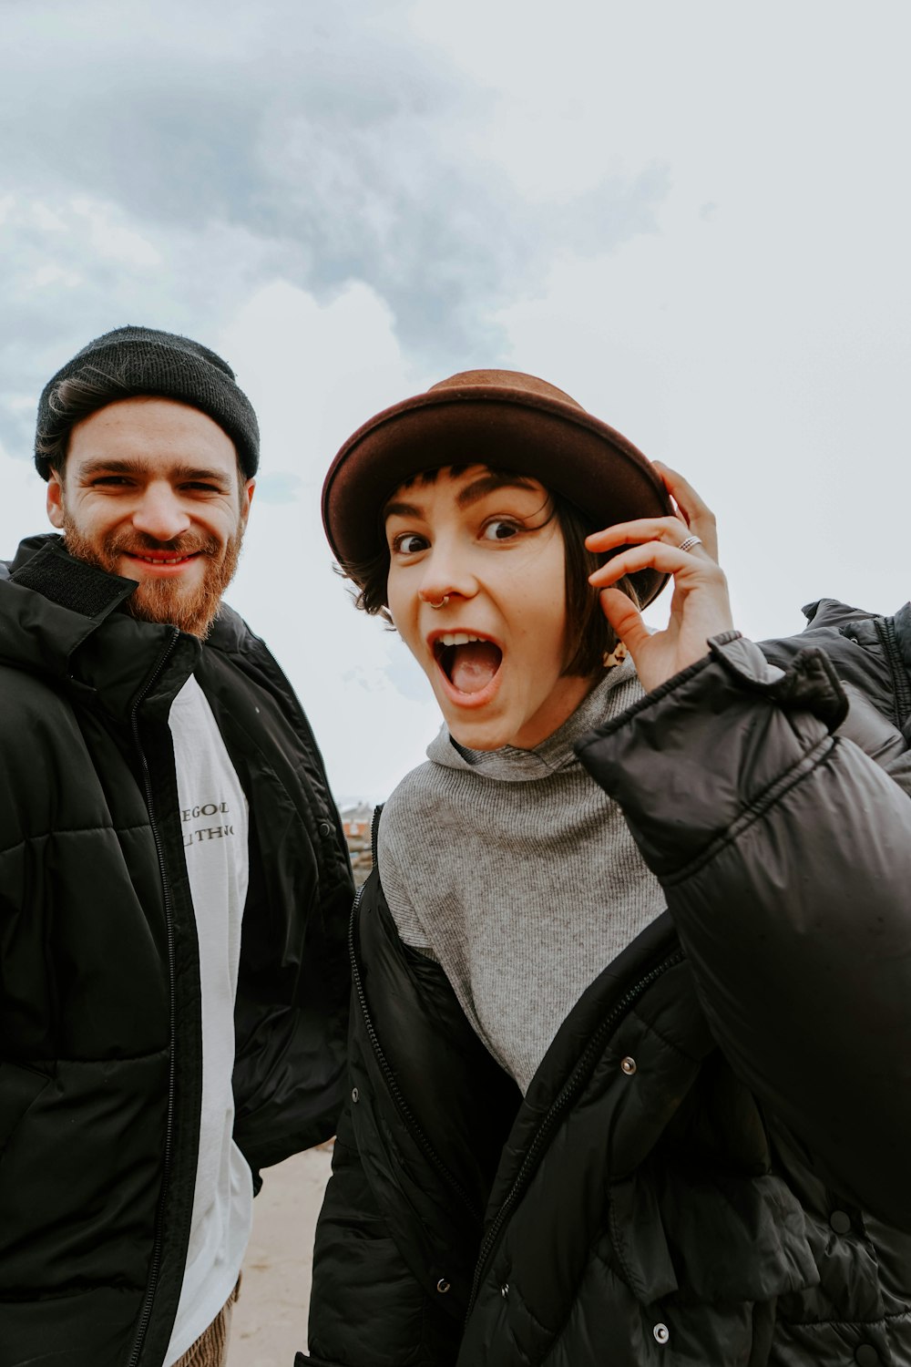
POLYGON ((444 727, 382 812, 380 878, 402 939, 441 964, 523 1092, 585 988, 665 906, 572 749, 639 697, 627 660, 534 750, 464 750, 444 727))

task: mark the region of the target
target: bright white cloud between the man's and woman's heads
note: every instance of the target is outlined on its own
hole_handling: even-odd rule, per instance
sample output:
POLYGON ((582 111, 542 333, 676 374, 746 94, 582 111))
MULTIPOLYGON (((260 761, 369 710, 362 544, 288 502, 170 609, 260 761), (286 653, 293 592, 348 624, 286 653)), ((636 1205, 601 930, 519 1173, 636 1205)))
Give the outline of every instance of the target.
POLYGON ((257 409, 264 480, 299 481, 291 499, 254 496, 228 599, 298 689, 336 794, 381 800, 423 759, 437 709, 397 637, 356 612, 333 574, 320 491, 341 442, 429 380, 412 376, 389 309, 365 284, 320 303, 273 280, 240 305, 217 347, 257 409))

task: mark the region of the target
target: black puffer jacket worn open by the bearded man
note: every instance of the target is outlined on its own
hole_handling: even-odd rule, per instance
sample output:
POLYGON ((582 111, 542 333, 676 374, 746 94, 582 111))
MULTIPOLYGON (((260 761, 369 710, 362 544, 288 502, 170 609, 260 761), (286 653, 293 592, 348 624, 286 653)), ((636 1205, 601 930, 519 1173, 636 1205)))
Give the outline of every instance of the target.
POLYGON ((331 1136, 347 852, 287 681, 228 608, 201 647, 23 544, 0 581, 0 1367, 160 1367, 195 1181, 199 975, 168 711, 195 673, 250 802, 235 1137, 331 1136))

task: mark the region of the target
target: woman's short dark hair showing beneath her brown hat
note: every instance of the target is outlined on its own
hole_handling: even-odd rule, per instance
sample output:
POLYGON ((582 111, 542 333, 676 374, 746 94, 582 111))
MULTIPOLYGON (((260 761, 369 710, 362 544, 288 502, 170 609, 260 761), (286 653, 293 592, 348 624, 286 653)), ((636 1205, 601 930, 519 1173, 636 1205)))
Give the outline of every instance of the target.
MULTIPOLYGON (((449 473, 459 476, 467 466, 451 466, 449 473)), ((503 473, 493 470, 492 473, 503 473)), ((426 470, 415 474, 408 484, 433 484, 438 472, 426 470)), ((549 493, 553 503, 550 518, 557 519, 563 533, 564 566, 565 566, 565 604, 567 604, 567 634, 568 634, 568 663, 563 673, 579 678, 591 678, 602 670, 605 660, 613 653, 617 637, 601 610, 600 593, 589 584, 589 576, 604 562, 594 551, 585 545, 586 536, 600 530, 586 521, 583 514, 568 499, 559 493, 549 493)), ((387 580, 389 577, 389 550, 382 543, 382 550, 363 565, 340 565, 341 574, 356 586, 354 606, 372 617, 381 617, 392 623, 389 615, 387 580)), ((628 577, 623 577, 615 585, 638 607, 639 599, 628 577)))

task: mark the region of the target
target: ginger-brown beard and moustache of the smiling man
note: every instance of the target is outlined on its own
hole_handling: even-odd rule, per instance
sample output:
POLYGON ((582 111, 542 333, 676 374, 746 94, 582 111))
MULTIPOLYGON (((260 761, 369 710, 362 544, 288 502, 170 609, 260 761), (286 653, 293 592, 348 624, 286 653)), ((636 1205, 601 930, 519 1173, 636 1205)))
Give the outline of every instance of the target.
POLYGON ((167 551, 169 555, 198 552, 206 556, 202 582, 191 592, 179 580, 148 578, 137 584, 124 604, 142 622, 169 622, 182 632, 205 640, 219 614, 221 595, 234 578, 240 559, 243 524, 238 524, 236 532, 224 544, 216 537, 199 536, 175 536, 172 541, 156 541, 141 532, 115 533, 98 544, 85 537, 64 510, 63 537, 70 555, 97 565, 108 574, 120 574, 117 562, 127 551, 134 555, 167 551))

